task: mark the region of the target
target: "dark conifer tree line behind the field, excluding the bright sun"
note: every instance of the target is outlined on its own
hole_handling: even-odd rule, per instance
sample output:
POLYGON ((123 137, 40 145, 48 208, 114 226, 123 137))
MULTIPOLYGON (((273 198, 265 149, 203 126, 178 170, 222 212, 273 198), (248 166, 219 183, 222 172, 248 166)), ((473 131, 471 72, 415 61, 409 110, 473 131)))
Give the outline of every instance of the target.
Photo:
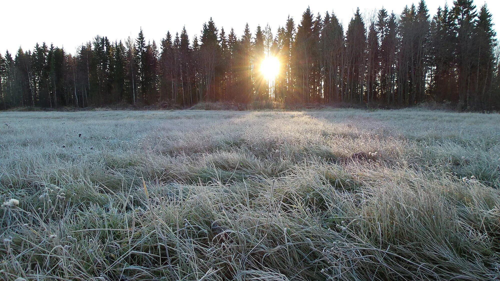
POLYGON ((500 108, 500 65, 486 4, 455 0, 430 18, 423 0, 399 15, 359 8, 347 28, 307 8, 295 24, 246 24, 238 37, 210 18, 189 39, 183 28, 159 45, 96 36, 74 54, 46 43, 0 54, 0 108, 16 106, 190 106, 200 101, 359 103, 449 102, 462 110, 500 108), (280 71, 266 80, 266 56, 280 71))

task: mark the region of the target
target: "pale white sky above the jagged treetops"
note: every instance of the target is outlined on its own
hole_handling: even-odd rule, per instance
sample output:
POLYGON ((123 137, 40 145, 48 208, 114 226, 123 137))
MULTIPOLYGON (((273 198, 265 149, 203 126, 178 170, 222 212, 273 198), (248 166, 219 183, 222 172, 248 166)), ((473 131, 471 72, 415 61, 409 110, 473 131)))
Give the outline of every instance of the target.
MULTIPOLYGON (((452 5, 452 0, 447 2, 452 5)), ((500 1, 474 0, 477 10, 484 2, 498 32, 500 1)), ((36 42, 53 43, 75 53, 79 45, 96 35, 112 41, 124 40, 137 37, 141 27, 146 40, 155 40, 158 45, 167 30, 180 33, 184 25, 191 40, 200 34, 202 24, 210 17, 219 30, 224 27, 226 34, 233 27, 240 36, 246 22, 252 34, 259 24, 262 28, 269 24, 274 33, 285 24, 288 15, 298 24, 307 5, 314 14, 333 11, 346 28, 356 7, 370 18, 381 7, 399 14, 404 5, 411 3, 417 5, 418 0, 5 0, 1 4, 0 53, 5 54, 6 49, 15 53, 19 46, 23 50, 33 49, 36 42)), ((431 17, 445 3, 446 0, 427 0, 431 17)))

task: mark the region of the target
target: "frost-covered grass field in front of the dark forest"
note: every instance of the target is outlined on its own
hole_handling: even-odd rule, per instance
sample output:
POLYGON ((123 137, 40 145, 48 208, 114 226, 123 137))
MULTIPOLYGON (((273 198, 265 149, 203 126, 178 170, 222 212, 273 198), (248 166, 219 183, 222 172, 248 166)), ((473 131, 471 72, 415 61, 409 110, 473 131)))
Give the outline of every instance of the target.
POLYGON ((0 279, 500 278, 499 114, 0 121, 0 279))

